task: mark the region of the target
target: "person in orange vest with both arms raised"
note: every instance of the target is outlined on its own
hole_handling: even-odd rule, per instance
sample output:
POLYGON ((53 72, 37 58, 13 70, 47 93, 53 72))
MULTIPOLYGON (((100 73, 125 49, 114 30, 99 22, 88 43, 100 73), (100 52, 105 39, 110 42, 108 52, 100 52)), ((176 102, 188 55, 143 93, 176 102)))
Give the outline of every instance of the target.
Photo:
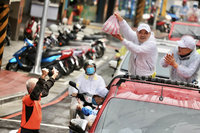
POLYGON ((21 128, 17 133, 39 133, 42 121, 42 109, 40 100, 49 93, 49 89, 54 85, 58 71, 53 68, 53 75, 45 80, 49 70, 42 69, 42 76, 38 79, 31 78, 26 81, 28 95, 22 98, 21 128))

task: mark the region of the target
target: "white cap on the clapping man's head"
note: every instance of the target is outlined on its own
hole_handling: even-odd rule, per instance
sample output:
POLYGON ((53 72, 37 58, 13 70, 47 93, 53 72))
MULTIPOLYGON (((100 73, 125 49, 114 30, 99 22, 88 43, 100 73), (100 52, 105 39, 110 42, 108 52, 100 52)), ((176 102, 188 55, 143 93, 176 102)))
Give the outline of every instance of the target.
POLYGON ((181 48, 189 48, 193 50, 196 47, 195 39, 189 35, 185 35, 181 37, 181 40, 177 42, 178 42, 178 46, 181 48))

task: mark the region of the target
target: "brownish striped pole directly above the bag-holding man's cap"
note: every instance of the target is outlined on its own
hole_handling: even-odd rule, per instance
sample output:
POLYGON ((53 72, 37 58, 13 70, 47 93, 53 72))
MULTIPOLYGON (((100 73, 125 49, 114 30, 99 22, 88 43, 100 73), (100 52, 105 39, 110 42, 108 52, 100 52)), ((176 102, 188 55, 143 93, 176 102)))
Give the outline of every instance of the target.
POLYGON ((140 21, 142 20, 142 15, 144 14, 144 8, 145 8, 145 0, 137 0, 137 7, 136 7, 136 13, 134 18, 134 27, 137 27, 140 21))

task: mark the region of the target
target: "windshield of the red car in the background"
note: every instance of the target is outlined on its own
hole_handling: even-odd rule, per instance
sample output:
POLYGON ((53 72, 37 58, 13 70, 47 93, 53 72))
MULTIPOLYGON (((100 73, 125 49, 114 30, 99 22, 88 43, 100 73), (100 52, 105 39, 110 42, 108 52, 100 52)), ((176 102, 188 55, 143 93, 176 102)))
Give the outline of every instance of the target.
POLYGON ((183 35, 191 35, 200 40, 200 26, 175 24, 171 37, 181 38, 183 35))

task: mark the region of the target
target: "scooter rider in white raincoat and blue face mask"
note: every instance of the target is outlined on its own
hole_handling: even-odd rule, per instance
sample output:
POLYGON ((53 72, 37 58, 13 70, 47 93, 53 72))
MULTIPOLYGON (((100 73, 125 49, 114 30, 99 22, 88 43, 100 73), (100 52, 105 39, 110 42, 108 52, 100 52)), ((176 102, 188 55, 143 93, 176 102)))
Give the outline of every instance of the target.
MULTIPOLYGON (((80 94, 87 93, 89 95, 103 95, 104 97, 108 93, 104 79, 96 74, 96 64, 93 60, 88 60, 84 64, 85 73, 81 74, 76 80, 76 86, 80 94), (98 90, 98 91, 97 91, 98 90)), ((70 106, 70 119, 74 118, 76 115, 77 107, 77 96, 78 90, 70 88, 69 94, 72 97, 70 106)))

